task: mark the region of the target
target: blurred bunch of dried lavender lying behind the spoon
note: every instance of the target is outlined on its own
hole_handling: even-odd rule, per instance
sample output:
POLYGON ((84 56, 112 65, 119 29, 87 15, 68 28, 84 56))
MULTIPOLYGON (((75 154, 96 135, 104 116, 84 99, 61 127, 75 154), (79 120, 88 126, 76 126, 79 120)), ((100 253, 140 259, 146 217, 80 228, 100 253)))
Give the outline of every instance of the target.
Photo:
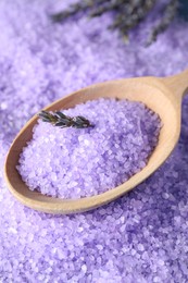
MULTIPOLYGON (((70 9, 52 14, 51 17, 53 22, 59 23, 83 12, 87 13, 90 17, 113 12, 114 23, 109 28, 117 28, 123 36, 127 37, 129 30, 147 17, 155 3, 156 0, 79 0, 71 4, 70 9)), ((156 40, 158 35, 170 26, 177 13, 177 8, 178 0, 170 0, 164 5, 164 16, 161 16, 156 26, 151 27, 151 35, 147 41, 147 46, 156 40)))

